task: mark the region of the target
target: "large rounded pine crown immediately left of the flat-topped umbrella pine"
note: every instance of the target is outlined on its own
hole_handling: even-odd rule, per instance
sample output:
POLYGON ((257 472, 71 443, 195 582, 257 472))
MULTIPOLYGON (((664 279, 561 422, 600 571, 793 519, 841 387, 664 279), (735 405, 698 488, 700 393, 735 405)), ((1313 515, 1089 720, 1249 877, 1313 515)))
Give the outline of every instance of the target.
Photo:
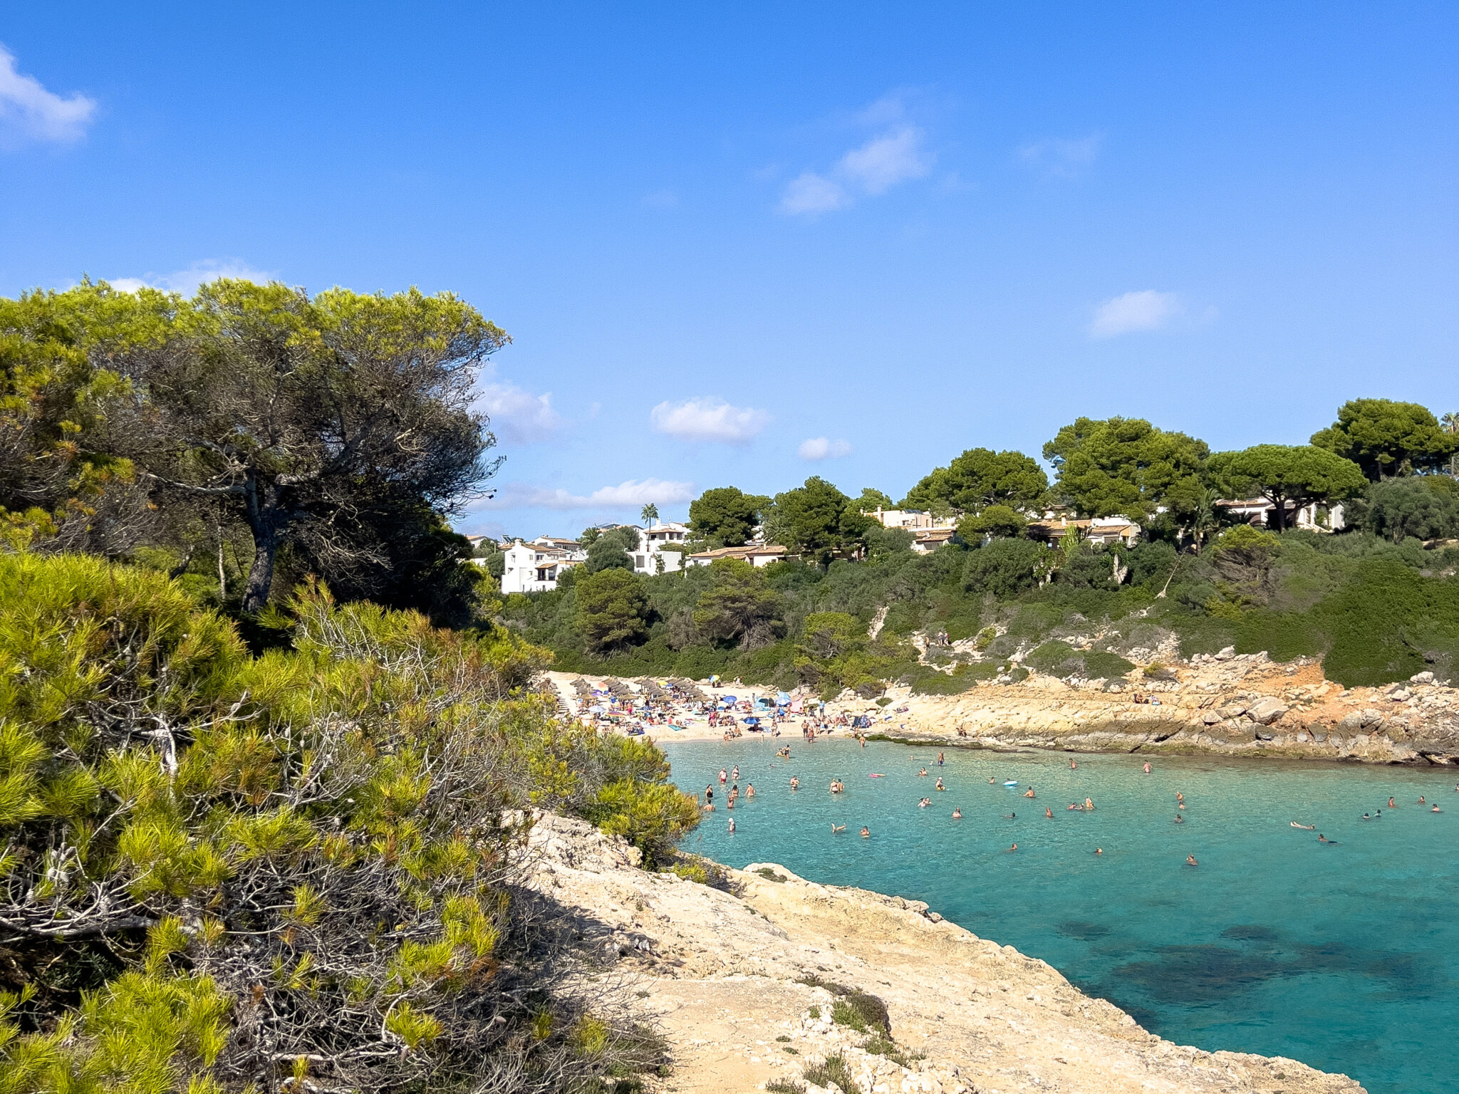
POLYGON ((1144 419, 1077 419, 1043 446, 1055 467, 1055 493, 1083 516, 1148 521, 1158 506, 1192 512, 1211 449, 1144 419))

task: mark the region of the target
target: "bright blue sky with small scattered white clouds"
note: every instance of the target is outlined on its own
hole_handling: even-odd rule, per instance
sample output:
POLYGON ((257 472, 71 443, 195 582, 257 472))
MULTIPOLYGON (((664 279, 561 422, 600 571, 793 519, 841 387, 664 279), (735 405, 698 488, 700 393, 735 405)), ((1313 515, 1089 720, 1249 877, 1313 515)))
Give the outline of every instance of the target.
POLYGON ((0 15, 0 293, 463 295, 463 531, 1459 410, 1452 3, 225 7, 0 15))

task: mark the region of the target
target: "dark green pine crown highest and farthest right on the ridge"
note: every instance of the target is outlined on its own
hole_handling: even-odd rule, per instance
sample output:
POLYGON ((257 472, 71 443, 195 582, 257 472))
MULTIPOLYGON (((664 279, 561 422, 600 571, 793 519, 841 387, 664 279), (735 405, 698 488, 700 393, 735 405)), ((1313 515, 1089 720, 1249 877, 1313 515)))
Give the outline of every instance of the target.
POLYGON ((1459 433, 1418 403, 1355 398, 1342 404, 1336 422, 1312 435, 1312 443, 1351 459, 1376 483, 1444 467, 1459 451, 1459 433))

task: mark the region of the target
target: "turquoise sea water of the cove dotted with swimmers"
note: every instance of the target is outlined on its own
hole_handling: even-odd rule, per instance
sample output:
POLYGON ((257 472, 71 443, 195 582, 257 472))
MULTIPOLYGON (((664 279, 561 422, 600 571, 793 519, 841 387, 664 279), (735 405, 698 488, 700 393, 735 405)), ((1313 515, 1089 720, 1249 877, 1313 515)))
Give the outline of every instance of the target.
POLYGON ((686 850, 925 900, 1182 1044, 1291 1056, 1373 1094, 1459 1093, 1453 770, 1154 759, 1145 775, 1138 756, 1078 756, 1071 770, 1068 754, 953 748, 938 769, 935 748, 789 737, 667 751, 683 789, 715 786, 686 850), (789 761, 775 757, 785 742, 789 761), (756 798, 727 812, 718 773, 734 764, 756 798), (1085 796, 1093 812, 1065 808, 1085 796))

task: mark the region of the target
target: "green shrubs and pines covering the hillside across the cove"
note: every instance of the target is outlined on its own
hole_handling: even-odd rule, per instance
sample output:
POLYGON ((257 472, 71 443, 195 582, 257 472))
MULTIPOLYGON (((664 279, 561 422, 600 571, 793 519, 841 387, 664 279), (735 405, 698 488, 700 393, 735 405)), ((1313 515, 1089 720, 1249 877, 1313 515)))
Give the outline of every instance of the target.
POLYGON ((821 694, 889 681, 951 693, 1029 670, 1112 678, 1137 653, 1224 646, 1322 658, 1344 684, 1447 677, 1459 655, 1453 416, 1354 400, 1336 419, 1310 445, 1215 454, 1148 422, 1078 419, 1043 449, 1052 483, 1021 452, 969 449, 900 503, 957 518, 929 553, 868 516, 890 506, 874 489, 718 487, 690 505, 689 550, 760 528, 797 557, 611 579, 589 562, 550 592, 508 597, 500 618, 565 670, 718 672, 821 694), (1233 513, 1231 499, 1265 499, 1266 522, 1233 513), (1326 518, 1339 505, 1341 531, 1293 527, 1304 506, 1326 518), (1052 541, 1032 538, 1049 512, 1135 519, 1141 537, 1091 543, 1087 522, 1065 522, 1052 541), (937 635, 947 645, 928 642, 937 635))

